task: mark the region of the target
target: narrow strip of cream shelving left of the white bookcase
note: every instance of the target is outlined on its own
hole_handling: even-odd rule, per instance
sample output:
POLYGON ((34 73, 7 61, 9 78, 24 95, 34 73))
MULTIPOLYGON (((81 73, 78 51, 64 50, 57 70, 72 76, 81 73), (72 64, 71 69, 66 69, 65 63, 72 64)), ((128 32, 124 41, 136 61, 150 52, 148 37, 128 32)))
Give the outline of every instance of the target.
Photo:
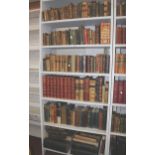
POLYGON ((39 101, 39 19, 40 9, 29 10, 29 132, 30 135, 37 137, 41 135, 39 101))

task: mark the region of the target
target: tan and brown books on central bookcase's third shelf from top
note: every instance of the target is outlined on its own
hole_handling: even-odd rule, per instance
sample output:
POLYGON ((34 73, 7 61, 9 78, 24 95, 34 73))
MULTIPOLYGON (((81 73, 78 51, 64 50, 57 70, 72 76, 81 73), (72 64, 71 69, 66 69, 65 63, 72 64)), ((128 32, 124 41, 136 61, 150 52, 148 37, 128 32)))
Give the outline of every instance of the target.
POLYGON ((44 71, 109 73, 109 54, 93 55, 46 55, 44 71))

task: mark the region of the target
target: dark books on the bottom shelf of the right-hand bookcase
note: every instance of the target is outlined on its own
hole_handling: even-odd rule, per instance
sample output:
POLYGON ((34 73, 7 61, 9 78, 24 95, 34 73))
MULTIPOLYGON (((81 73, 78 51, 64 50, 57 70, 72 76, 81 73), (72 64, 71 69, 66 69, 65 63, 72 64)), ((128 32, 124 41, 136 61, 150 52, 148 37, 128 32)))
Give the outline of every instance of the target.
POLYGON ((111 136, 110 153, 111 155, 126 155, 126 138, 111 136))

